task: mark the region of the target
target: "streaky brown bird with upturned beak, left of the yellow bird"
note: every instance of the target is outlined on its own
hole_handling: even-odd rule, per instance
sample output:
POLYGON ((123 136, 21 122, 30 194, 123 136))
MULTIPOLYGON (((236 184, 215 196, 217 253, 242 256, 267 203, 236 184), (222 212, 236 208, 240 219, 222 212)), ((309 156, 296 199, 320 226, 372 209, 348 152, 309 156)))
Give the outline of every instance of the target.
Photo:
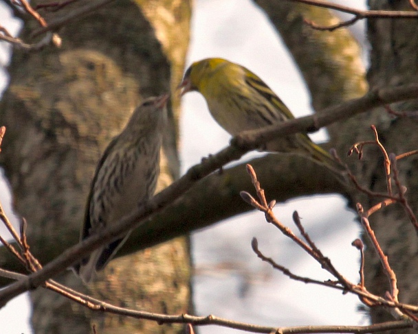
MULTIPOLYGON (((168 95, 151 97, 133 112, 96 167, 80 239, 115 224, 153 196, 159 175, 159 150, 166 123, 168 95)), ((129 236, 94 250, 74 266, 86 283, 102 270, 129 236)))

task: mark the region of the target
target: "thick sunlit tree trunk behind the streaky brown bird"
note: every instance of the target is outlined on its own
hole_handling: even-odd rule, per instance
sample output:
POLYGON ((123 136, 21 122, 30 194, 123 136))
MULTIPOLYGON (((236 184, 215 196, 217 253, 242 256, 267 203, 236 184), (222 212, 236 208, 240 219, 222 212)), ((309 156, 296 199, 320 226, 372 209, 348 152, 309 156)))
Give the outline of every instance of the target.
MULTIPOLYGON (((7 127, 8 136, 0 158, 12 185, 14 207, 28 219, 31 250, 40 258, 45 253, 56 257, 78 241, 98 158, 140 99, 166 93, 180 80, 190 3, 164 2, 148 1, 143 15, 131 1, 115 1, 64 27, 61 49, 14 52, 10 85, 1 103, 0 123, 7 127), (151 5, 155 12, 164 12, 169 22, 147 15, 151 5), (170 45, 174 32, 176 38, 181 34, 181 43, 170 45)), ((26 25, 25 38, 33 27, 32 22, 26 25)), ((179 174, 178 117, 177 109, 170 110, 158 189, 179 174)), ((186 312, 190 307, 188 240, 175 239, 112 261, 88 287, 72 273, 60 280, 115 305, 186 312)), ((31 299, 35 333, 89 333, 92 322, 98 324, 99 333, 182 331, 181 326, 91 313, 43 289, 32 292, 31 299)))

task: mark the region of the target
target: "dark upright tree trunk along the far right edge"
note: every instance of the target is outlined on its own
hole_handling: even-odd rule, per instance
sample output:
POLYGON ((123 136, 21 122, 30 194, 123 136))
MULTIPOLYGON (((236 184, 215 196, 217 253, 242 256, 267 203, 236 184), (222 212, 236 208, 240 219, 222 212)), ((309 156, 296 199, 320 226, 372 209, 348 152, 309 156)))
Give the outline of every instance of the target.
MULTIPOLYGON (((372 10, 411 10, 409 2, 369 1, 372 10)), ((418 25, 410 20, 369 20, 368 36, 371 43, 370 69, 367 78, 371 87, 418 82, 418 25)), ((418 101, 408 101, 391 106, 395 110, 417 110, 418 101)), ((418 122, 408 118, 393 119, 383 108, 369 113, 365 120, 374 123, 379 130, 380 139, 388 152, 400 154, 417 150, 418 122)), ((365 124, 366 125, 366 124, 365 124)), ((382 173, 382 158, 377 150, 369 154, 376 161, 366 174, 365 182, 373 189, 385 189, 386 182, 382 173)), ((370 165, 369 165, 370 166, 370 165)), ((368 167, 369 167, 368 166, 368 167)), ((370 167, 369 167, 370 168, 370 167)), ((418 157, 411 156, 399 162, 399 178, 407 187, 406 196, 412 211, 418 212, 418 157)), ((357 199, 356 199, 357 200, 357 199)), ((371 205, 371 202, 364 202, 371 205)), ((418 302, 418 242, 417 233, 400 206, 391 206, 381 210, 371 219, 377 238, 388 255, 389 263, 397 274, 399 300, 408 303, 418 302)), ((366 283, 373 291, 384 294, 388 289, 388 279, 379 265, 371 248, 366 253, 368 270, 366 283)), ((372 309, 373 322, 391 319, 391 315, 382 309, 372 309)), ((407 331, 401 332, 406 333, 407 331)), ((414 333, 410 330, 408 333, 414 333)), ((393 331, 392 333, 395 333, 393 331)), ((396 331, 399 333, 399 331, 396 331)))

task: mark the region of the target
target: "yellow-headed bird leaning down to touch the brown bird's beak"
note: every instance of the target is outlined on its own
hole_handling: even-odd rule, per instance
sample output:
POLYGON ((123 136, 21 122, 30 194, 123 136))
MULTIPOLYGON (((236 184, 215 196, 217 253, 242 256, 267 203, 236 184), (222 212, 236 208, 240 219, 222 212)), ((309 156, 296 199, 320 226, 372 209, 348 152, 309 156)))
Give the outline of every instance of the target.
MULTIPOLYGON (((292 112, 257 75, 245 67, 221 58, 194 62, 179 84, 181 95, 198 91, 206 99, 212 117, 235 136, 294 119, 292 112)), ((336 161, 304 133, 265 143, 262 150, 308 154, 329 167, 336 161)))

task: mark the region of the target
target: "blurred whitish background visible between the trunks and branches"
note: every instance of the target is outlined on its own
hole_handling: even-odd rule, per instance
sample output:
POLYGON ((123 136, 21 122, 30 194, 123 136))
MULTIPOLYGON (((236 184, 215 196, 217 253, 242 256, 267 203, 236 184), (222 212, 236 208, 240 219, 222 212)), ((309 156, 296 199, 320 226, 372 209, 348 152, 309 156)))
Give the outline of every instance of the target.
MULTIPOLYGON (((344 1, 344 5, 365 6, 360 0, 344 1)), ((12 34, 17 34, 19 22, 12 19, 8 8, 1 2, 0 17, 1 24, 12 34)), ((351 29, 359 43, 366 47, 364 22, 351 29)), ((10 46, 1 43, 1 90, 8 82, 5 67, 9 57, 10 46)), ((227 58, 251 69, 283 99, 296 117, 312 112, 306 86, 292 58, 263 12, 250 0, 195 0, 188 64, 207 57, 227 58)), ((320 131, 311 138, 320 143, 327 140, 327 133, 320 131)), ((228 145, 229 139, 229 134, 212 120, 201 95, 189 93, 183 98, 183 172, 199 163, 201 157, 228 145)), ((244 159, 254 155, 248 154, 244 159)), ((12 217, 12 200, 3 178, 0 200, 6 213, 12 217)), ((267 200, 272 200, 268 194, 267 200)), ((360 230, 354 213, 346 210, 346 203, 340 196, 300 198, 278 203, 274 211, 278 219, 291 228, 294 227, 292 213, 298 211, 306 230, 322 252, 344 276, 353 282, 358 281, 358 251, 351 242, 358 237, 360 230)), ((366 324, 366 316, 357 310, 357 298, 342 296, 339 291, 325 287, 291 281, 257 259, 250 246, 252 237, 259 240, 259 248, 267 257, 272 257, 292 272, 317 279, 330 278, 263 217, 262 213, 256 212, 241 215, 192 235, 193 292, 197 315, 212 313, 222 318, 267 326, 366 324)), ((17 222, 16 218, 14 222, 17 222)), ((3 226, 0 232, 5 235, 3 226)), ((27 296, 14 299, 0 310, 1 333, 32 333, 29 318, 27 296)), ((201 327, 199 332, 238 333, 217 326, 201 327)))

